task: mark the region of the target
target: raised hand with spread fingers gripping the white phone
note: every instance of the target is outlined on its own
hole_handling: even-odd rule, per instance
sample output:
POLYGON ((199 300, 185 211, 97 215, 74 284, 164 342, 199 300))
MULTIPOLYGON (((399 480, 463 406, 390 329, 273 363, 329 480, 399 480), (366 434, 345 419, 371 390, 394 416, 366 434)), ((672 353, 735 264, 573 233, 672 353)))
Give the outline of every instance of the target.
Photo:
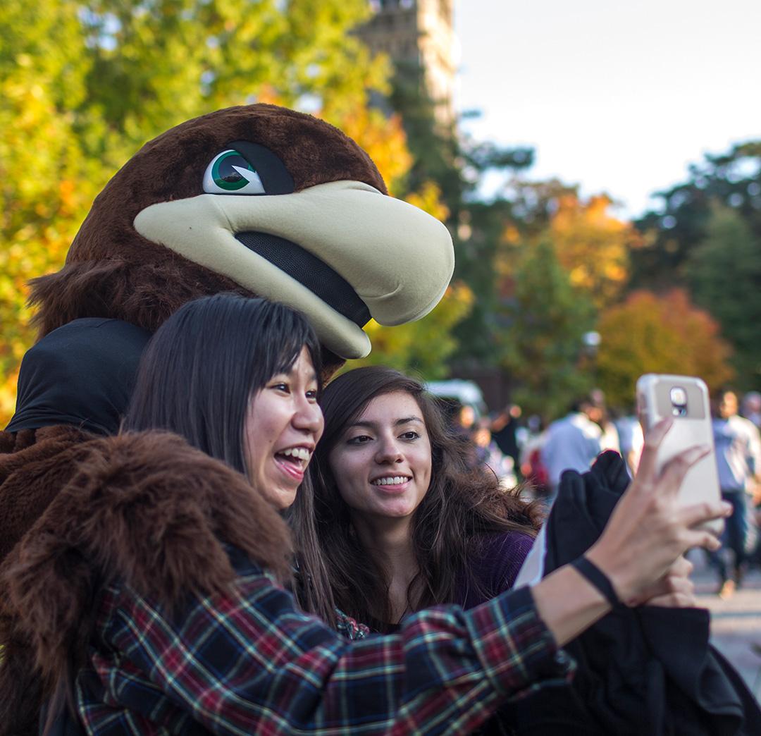
MULTIPOLYGON (((586 555, 610 578, 622 601, 646 600, 659 581, 668 581, 674 562, 691 547, 718 550, 718 539, 695 527, 731 513, 731 505, 725 502, 681 506, 677 500, 684 476, 708 448, 690 448, 656 473, 656 454, 671 423, 665 419, 648 432, 637 477, 586 555)), ((686 591, 663 591, 650 597, 683 594, 686 591)))

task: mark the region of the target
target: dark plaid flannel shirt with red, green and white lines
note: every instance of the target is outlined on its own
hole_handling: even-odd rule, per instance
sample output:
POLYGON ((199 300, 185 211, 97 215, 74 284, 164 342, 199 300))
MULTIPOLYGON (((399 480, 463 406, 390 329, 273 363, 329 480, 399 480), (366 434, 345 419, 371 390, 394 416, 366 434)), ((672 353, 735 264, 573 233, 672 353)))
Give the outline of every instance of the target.
POLYGON ((527 588, 349 642, 233 551, 227 594, 169 612, 127 585, 97 604, 79 716, 91 734, 442 734, 573 671, 527 588))

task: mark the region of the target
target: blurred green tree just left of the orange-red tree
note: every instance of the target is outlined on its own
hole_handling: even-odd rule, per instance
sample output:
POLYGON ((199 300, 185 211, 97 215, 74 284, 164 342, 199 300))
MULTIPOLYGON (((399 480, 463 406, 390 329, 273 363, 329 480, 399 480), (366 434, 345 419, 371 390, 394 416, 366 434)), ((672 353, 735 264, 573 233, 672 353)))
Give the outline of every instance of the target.
POLYGON ((583 355, 594 307, 572 287, 548 240, 525 248, 514 278, 495 349, 517 384, 514 400, 528 413, 559 416, 594 384, 583 355))

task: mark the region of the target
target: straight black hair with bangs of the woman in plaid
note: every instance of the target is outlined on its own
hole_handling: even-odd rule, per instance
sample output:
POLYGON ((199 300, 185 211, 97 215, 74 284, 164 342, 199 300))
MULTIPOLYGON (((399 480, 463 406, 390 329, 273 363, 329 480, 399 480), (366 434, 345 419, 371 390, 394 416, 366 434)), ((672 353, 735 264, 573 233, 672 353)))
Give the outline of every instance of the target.
MULTIPOLYGON (((184 304, 145 349, 123 429, 168 429, 248 474, 243 428, 252 393, 287 372, 306 348, 320 381, 320 343, 307 320, 283 304, 218 294, 184 304)), ((320 384, 321 390, 321 384, 320 384)), ((317 549, 312 486, 296 499, 301 605, 333 623, 333 597, 317 549)), ((297 576, 298 577, 298 576, 297 576)))

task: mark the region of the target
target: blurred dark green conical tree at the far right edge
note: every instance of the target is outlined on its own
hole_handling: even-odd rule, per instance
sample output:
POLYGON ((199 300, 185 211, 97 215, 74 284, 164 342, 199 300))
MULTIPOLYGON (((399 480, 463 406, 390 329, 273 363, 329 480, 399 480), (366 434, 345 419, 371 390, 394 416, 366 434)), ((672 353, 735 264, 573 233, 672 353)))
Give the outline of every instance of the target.
POLYGON ((718 204, 705 229, 687 260, 687 282, 734 346, 738 387, 750 390, 761 386, 761 236, 740 212, 718 204))

